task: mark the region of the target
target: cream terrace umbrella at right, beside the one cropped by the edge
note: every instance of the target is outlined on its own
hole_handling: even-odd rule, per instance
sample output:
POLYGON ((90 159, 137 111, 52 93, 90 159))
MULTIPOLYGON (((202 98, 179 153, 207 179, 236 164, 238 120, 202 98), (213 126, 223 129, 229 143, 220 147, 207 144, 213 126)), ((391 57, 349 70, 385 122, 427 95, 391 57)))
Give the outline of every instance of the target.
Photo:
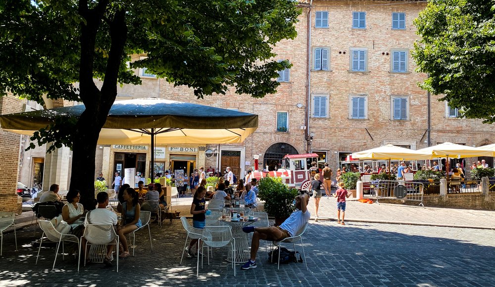
POLYGON ((479 147, 472 147, 462 144, 452 144, 452 143, 443 143, 437 144, 430 147, 425 147, 422 149, 418 149, 418 152, 429 153, 434 157, 445 157, 446 158, 446 180, 448 186, 448 158, 463 158, 463 157, 474 157, 474 156, 493 156, 493 151, 479 147))

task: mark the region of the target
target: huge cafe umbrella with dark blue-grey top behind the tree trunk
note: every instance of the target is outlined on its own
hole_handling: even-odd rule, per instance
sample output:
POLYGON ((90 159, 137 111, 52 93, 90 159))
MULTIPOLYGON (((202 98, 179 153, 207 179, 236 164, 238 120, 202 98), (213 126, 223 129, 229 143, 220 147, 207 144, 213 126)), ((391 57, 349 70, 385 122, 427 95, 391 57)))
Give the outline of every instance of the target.
MULTIPOLYGON (((84 105, 0 115, 0 127, 32 135, 61 117, 77 118, 84 105)), ((233 144, 258 127, 254 114, 162 98, 116 101, 99 134, 98 144, 233 144)), ((151 152, 151 167, 154 152, 151 152)))

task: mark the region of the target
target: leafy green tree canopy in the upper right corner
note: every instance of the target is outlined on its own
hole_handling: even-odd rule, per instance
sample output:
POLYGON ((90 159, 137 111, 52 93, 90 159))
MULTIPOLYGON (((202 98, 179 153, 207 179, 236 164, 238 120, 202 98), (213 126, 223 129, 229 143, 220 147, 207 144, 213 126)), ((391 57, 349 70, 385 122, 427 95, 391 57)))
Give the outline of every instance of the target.
POLYGON ((495 1, 429 0, 414 21, 420 86, 466 118, 495 122, 495 1))

